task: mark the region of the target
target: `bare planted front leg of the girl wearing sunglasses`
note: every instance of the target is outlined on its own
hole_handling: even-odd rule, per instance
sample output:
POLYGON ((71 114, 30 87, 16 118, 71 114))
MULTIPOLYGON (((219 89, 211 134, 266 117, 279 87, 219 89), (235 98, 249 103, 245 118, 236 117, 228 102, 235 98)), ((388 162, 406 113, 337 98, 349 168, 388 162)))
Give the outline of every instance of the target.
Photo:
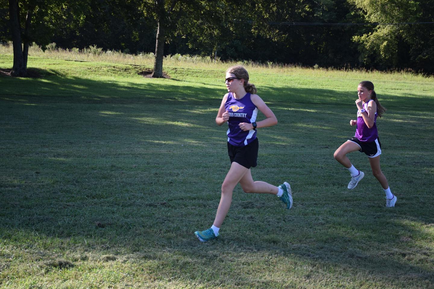
POLYGON ((226 218, 227 212, 229 211, 230 203, 232 202, 233 188, 235 188, 247 173, 250 174, 250 169, 241 166, 237 162, 232 162, 229 172, 227 172, 226 178, 221 185, 220 204, 217 208, 214 226, 220 228, 221 224, 223 224, 224 218, 226 218))

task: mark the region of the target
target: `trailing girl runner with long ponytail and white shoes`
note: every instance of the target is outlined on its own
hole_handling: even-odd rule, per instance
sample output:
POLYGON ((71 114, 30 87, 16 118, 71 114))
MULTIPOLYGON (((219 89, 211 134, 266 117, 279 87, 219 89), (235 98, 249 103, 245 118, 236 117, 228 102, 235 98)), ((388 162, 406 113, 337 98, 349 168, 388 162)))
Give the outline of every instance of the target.
POLYGON ((365 153, 369 158, 372 174, 378 179, 386 194, 386 207, 395 207, 397 198, 391 193, 387 179, 380 168, 381 143, 378 139, 376 121, 377 116, 381 117, 385 112, 385 108, 378 101, 371 81, 360 82, 357 92, 358 99, 355 101, 358 109, 357 120, 350 120, 350 125, 356 126, 355 136, 339 146, 334 157, 349 170, 351 181, 348 189, 352 190, 365 174, 351 164, 346 154, 356 150, 365 153))

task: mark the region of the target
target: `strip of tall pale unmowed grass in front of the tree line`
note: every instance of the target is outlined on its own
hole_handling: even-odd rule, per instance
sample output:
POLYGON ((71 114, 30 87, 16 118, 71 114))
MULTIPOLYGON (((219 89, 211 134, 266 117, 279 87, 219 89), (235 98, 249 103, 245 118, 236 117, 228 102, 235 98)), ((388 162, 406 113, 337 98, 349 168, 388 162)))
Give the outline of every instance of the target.
MULTIPOLYGON (((1 54, 12 54, 12 43, 0 44, 1 54)), ((57 47, 56 43, 51 43, 46 46, 45 50, 41 49, 39 45, 33 43, 29 48, 30 56, 38 56, 43 58, 74 60, 74 61, 89 61, 89 62, 109 62, 127 65, 144 65, 153 67, 155 55, 154 53, 139 53, 130 54, 128 49, 126 51, 116 50, 103 50, 96 45, 90 45, 84 49, 72 48, 62 49, 57 47)), ((393 78, 396 81, 418 81, 422 79, 433 79, 434 76, 427 76, 423 74, 414 74, 409 71, 368 71, 363 68, 321 68, 318 65, 313 67, 303 67, 296 64, 283 64, 273 62, 255 62, 252 60, 244 61, 221 61, 220 58, 213 58, 210 56, 198 55, 167 55, 164 56, 164 67, 184 67, 184 68, 199 68, 205 70, 220 70, 224 71, 232 65, 244 65, 249 68, 249 71, 268 71, 270 74, 283 74, 283 75, 308 75, 311 77, 319 78, 358 78, 358 79, 389 79, 393 78)))

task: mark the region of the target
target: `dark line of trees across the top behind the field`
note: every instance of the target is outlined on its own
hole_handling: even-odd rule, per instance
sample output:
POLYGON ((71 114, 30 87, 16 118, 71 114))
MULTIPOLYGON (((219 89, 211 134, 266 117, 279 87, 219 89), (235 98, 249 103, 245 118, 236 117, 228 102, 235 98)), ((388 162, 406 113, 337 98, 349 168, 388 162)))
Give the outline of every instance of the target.
POLYGON ((434 73, 434 0, 0 0, 0 28, 13 75, 33 42, 434 73))

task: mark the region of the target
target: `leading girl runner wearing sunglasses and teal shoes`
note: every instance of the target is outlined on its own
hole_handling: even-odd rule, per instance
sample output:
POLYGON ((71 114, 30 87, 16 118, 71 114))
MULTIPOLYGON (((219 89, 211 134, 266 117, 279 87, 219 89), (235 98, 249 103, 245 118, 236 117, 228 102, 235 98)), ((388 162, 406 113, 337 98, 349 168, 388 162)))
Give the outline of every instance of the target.
POLYGON ((290 209, 293 205, 291 187, 287 182, 279 185, 279 187, 266 182, 255 182, 250 172, 250 168, 257 165, 256 159, 259 145, 256 138, 256 129, 276 125, 276 116, 256 94, 255 85, 249 83, 249 74, 242 66, 237 65, 227 69, 226 88, 228 93, 223 97, 217 113, 216 123, 219 126, 228 123, 227 152, 231 165, 221 185, 220 204, 212 227, 205 231, 194 232, 201 242, 219 236, 220 226, 232 202, 233 189, 238 183, 246 193, 277 195, 286 204, 287 209, 290 209), (258 110, 266 118, 256 123, 258 110))

